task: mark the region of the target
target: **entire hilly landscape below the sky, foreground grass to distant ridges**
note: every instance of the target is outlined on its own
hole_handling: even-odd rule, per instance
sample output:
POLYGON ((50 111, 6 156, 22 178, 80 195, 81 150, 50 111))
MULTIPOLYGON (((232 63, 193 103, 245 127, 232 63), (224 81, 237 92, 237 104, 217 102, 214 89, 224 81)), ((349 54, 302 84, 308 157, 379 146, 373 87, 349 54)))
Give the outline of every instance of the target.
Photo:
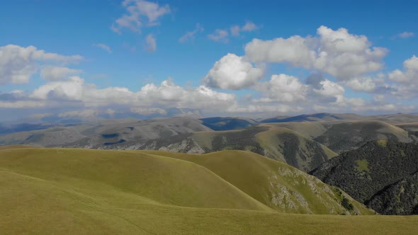
POLYGON ((395 233, 416 227, 417 218, 363 215, 418 214, 417 143, 418 115, 405 114, 4 124, 0 216, 8 219, 0 230, 137 234, 164 220, 170 233, 193 233, 180 219, 227 222, 203 234, 224 226, 252 233, 242 230, 248 223, 266 234, 283 223, 295 233, 333 233, 349 224, 356 224, 352 231, 395 233), (35 215, 52 226, 31 223, 35 215), (295 226, 307 221, 314 230, 295 226))

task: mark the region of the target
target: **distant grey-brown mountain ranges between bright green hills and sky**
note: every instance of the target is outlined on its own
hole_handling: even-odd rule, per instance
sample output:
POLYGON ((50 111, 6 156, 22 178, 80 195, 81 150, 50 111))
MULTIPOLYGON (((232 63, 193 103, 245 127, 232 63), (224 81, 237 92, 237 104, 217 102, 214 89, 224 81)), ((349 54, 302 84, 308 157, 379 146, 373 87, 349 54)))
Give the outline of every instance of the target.
POLYGON ((340 121, 254 125, 254 120, 239 117, 210 117, 203 121, 188 117, 161 120, 101 120, 6 134, 0 136, 0 144, 118 150, 150 149, 194 154, 237 149, 283 161, 308 172, 338 153, 357 149, 369 141, 418 141, 418 132, 414 132, 412 124, 395 126, 375 120, 341 121, 354 117, 351 114, 322 113, 303 117, 305 116, 321 117, 323 120, 332 116, 334 119, 340 118, 340 121), (213 131, 202 122, 213 125, 217 130, 252 126, 240 130, 213 131))

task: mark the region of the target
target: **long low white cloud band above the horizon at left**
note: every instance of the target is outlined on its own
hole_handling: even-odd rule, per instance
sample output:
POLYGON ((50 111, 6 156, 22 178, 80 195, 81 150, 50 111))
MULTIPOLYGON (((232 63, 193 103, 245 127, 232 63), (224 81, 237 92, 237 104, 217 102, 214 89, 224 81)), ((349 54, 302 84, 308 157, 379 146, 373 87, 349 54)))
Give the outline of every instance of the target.
POLYGON ((161 111, 155 108, 195 108, 217 112, 219 108, 226 110, 231 105, 237 105, 235 98, 235 94, 214 91, 207 86, 183 88, 174 84, 172 79, 162 81, 159 85, 146 84, 135 92, 125 87, 96 88, 94 84, 86 84, 79 76, 70 76, 66 81, 48 81, 30 93, 0 93, 0 108, 118 106, 136 108, 136 113, 161 111))

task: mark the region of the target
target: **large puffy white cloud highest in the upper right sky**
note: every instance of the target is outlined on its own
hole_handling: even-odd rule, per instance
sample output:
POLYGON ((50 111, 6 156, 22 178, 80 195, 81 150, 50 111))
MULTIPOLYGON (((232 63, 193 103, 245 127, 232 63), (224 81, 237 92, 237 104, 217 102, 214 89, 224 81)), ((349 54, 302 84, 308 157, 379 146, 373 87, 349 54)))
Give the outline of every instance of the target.
POLYGON ((371 47, 365 35, 350 34, 345 28, 332 30, 321 26, 315 37, 254 39, 245 46, 245 52, 254 62, 289 63, 322 71, 343 81, 382 69, 382 59, 388 50, 371 47))

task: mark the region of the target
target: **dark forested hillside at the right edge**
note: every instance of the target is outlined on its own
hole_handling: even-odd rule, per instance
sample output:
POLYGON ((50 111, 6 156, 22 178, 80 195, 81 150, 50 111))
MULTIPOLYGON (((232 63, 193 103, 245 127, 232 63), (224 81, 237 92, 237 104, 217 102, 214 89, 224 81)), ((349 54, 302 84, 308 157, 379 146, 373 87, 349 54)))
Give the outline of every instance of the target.
POLYGON ((312 171, 382 214, 411 214, 418 207, 418 145, 378 140, 348 151, 312 171))

